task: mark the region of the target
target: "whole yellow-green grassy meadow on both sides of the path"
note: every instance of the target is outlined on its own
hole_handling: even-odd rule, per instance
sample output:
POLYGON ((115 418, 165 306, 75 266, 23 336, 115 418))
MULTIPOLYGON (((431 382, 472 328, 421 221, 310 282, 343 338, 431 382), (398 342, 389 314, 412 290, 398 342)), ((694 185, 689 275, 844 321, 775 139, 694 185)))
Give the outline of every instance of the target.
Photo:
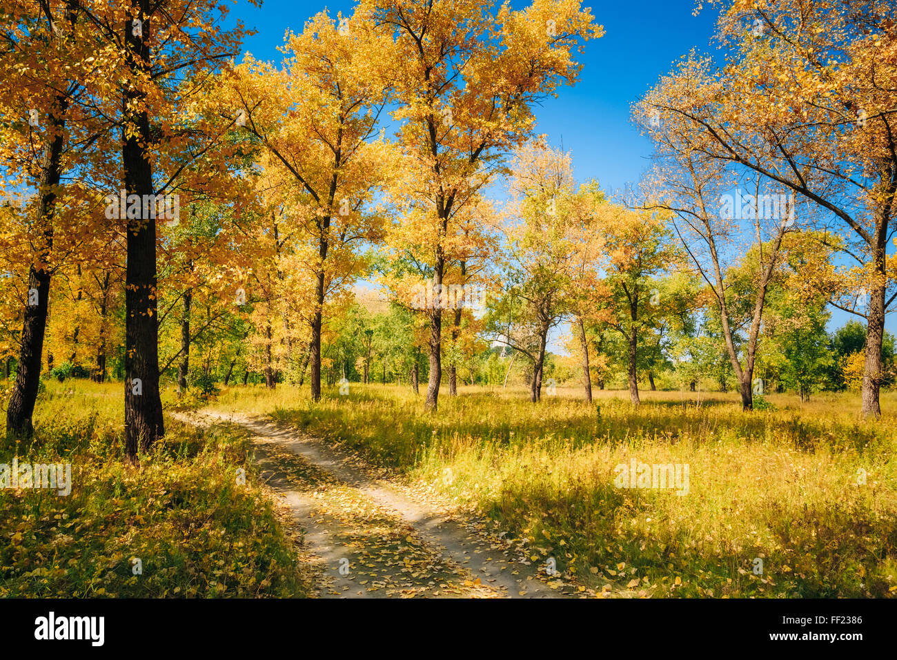
MULTIPOLYGON (((4 445, 4 460, 71 462, 75 487, 0 490, 0 596, 308 595, 297 539, 253 485, 247 434, 169 417, 165 441, 135 467, 123 460, 121 389, 48 382, 33 440, 4 445)), ((289 385, 164 396, 169 409, 302 429, 597 590, 897 593, 895 392, 877 422, 858 417, 851 393, 772 394, 748 414, 735 394, 645 392, 633 408, 626 392, 588 405, 564 387, 536 405, 522 387, 461 387, 435 415, 397 385, 353 383, 317 403, 289 385), (687 488, 620 488, 615 467, 632 459, 687 465, 687 488)))

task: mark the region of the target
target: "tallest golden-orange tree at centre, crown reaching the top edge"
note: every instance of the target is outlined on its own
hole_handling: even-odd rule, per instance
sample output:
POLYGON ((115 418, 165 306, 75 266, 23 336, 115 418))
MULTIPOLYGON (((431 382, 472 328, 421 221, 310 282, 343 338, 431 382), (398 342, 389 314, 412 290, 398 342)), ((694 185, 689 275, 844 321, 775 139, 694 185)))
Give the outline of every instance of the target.
MULTIPOLYGON (((536 0, 518 11, 486 0, 366 0, 359 12, 395 40, 393 117, 403 157, 389 192, 403 209, 398 233, 420 236, 414 256, 440 287, 457 260, 449 251, 455 209, 529 136, 532 104, 576 81, 573 50, 602 30, 579 0, 536 0)), ((431 410, 442 378, 442 312, 428 311, 431 410)))

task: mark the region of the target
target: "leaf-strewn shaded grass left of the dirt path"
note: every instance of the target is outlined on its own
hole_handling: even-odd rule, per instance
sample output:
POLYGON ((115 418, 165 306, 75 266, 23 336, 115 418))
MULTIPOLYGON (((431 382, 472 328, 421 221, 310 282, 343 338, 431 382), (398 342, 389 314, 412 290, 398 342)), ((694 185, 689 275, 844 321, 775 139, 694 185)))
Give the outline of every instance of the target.
POLYGON ((168 418, 165 441, 133 467, 122 460, 123 417, 120 383, 50 382, 33 441, 0 447, 0 462, 70 462, 74 483, 68 497, 0 490, 0 596, 308 593, 294 541, 252 485, 247 436, 168 418))

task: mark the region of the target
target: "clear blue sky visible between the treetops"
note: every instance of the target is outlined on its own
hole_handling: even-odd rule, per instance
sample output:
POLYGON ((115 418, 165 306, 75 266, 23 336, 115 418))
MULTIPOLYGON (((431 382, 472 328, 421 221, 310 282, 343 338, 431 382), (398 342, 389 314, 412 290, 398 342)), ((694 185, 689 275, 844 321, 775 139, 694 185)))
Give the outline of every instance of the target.
MULTIPOLYGON (((255 7, 238 0, 231 16, 257 30, 246 40, 245 50, 257 59, 279 62, 282 56, 276 48, 283 44, 285 31, 301 31, 311 15, 325 8, 335 15, 351 13, 353 5, 351 0, 265 0, 255 7)), ((692 15, 692 0, 598 0, 591 6, 605 36, 586 44, 579 57, 579 84, 563 87, 559 98, 536 108, 536 130, 547 135, 550 144, 563 144, 571 152, 578 180, 597 179, 613 192, 637 182, 649 167, 651 145, 630 121, 631 103, 692 48, 715 52, 711 36, 717 14, 705 4, 698 16, 692 15)), ((832 310, 830 330, 849 318, 856 317, 832 310)), ((887 327, 897 331, 893 315, 887 327)), ((566 328, 555 334, 561 331, 566 328)), ((562 352, 557 339, 553 337, 550 349, 562 352)))

